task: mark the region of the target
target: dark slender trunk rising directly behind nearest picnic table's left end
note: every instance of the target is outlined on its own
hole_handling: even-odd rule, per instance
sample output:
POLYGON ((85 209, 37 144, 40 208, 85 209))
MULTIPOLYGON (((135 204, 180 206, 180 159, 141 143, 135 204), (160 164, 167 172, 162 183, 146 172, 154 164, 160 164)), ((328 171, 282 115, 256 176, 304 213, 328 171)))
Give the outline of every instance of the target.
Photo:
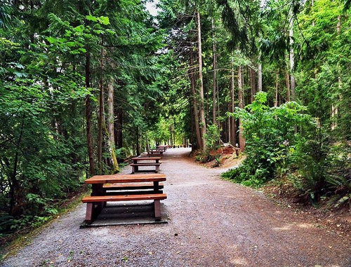
MULTIPOLYGON (((90 51, 86 50, 86 88, 90 88, 90 51)), ((91 99, 90 96, 86 96, 86 139, 88 142, 88 157, 89 157, 89 172, 91 175, 95 174, 95 163, 94 163, 94 150, 93 150, 93 139, 91 137, 91 99)))

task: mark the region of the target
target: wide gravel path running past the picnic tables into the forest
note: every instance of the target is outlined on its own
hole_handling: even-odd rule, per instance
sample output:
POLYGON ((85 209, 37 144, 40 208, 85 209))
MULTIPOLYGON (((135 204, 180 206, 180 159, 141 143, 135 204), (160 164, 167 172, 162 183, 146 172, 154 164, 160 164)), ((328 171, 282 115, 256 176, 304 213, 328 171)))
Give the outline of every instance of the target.
POLYGON ((168 224, 79 228, 81 204, 0 266, 351 266, 348 233, 221 180, 224 169, 201 167, 189 153, 168 149, 161 160, 168 224))

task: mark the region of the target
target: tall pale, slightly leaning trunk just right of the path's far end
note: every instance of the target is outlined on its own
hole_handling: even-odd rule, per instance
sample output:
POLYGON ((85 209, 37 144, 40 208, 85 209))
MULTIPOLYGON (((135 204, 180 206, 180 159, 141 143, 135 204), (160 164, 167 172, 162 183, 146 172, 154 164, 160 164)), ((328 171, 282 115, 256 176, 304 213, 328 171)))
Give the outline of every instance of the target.
POLYGON ((199 53, 199 109, 200 109, 200 130, 202 139, 202 150, 204 153, 207 152, 206 147, 206 120, 205 120, 205 107, 204 107, 204 80, 202 77, 202 48, 201 48, 201 20, 200 12, 197 10, 197 41, 198 41, 198 53, 199 53))

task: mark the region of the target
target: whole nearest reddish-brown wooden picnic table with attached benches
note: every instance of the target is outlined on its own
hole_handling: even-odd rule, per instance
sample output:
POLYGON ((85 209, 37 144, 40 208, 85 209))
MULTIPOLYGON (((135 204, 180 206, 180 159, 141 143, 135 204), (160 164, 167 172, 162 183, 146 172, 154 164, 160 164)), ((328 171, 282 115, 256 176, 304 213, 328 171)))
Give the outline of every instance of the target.
POLYGON ((161 193, 159 182, 166 181, 164 174, 114 174, 114 175, 95 175, 86 179, 85 184, 92 185, 91 196, 84 197, 81 201, 86 203, 86 224, 91 224, 93 220, 100 214, 107 201, 129 201, 129 200, 153 200, 154 201, 154 216, 157 221, 161 219, 160 200, 167 198, 165 193, 161 193), (152 191, 145 193, 145 185, 152 183, 152 191), (142 183, 142 184, 140 184, 142 183), (145 184, 146 183, 146 184, 145 184), (106 192, 104 185, 114 184, 116 193, 106 192), (121 195, 118 189, 128 190, 125 184, 134 184, 133 192, 121 195))

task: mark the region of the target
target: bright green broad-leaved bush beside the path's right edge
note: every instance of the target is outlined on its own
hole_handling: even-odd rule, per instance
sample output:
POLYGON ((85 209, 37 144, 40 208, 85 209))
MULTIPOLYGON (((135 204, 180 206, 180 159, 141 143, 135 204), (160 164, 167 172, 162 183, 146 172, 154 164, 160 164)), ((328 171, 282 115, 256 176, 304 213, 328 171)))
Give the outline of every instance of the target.
POLYGON ((305 109, 295 102, 267 107, 267 93, 258 93, 246 109, 233 116, 242 120, 246 138, 246 159, 223 177, 250 186, 259 186, 286 166, 289 148, 296 143, 295 127, 310 123, 305 109))

